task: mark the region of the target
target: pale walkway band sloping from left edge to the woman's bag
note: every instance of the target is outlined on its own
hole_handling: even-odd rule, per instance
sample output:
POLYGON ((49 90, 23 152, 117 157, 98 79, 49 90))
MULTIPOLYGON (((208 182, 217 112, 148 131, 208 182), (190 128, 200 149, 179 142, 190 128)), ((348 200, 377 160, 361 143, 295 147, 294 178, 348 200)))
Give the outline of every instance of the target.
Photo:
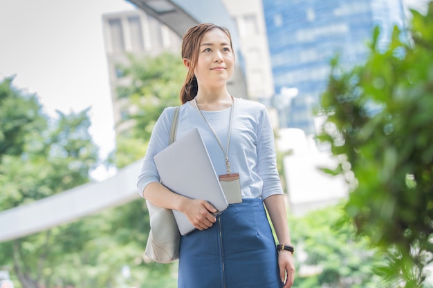
POLYGON ((102 182, 77 186, 57 195, 0 212, 0 242, 21 238, 78 220, 140 197, 136 188, 141 161, 102 182))

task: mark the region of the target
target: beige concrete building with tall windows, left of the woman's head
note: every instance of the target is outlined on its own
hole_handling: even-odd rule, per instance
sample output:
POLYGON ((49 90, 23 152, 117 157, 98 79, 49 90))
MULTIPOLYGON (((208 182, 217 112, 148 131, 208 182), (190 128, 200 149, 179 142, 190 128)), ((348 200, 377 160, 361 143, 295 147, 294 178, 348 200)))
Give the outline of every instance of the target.
POLYGON ((116 87, 126 85, 129 79, 122 77, 119 65, 127 65, 127 54, 139 59, 155 57, 168 51, 178 54, 181 39, 173 30, 142 10, 103 15, 104 44, 109 68, 111 99, 116 132, 127 128, 125 119, 133 108, 127 98, 118 98, 116 87))

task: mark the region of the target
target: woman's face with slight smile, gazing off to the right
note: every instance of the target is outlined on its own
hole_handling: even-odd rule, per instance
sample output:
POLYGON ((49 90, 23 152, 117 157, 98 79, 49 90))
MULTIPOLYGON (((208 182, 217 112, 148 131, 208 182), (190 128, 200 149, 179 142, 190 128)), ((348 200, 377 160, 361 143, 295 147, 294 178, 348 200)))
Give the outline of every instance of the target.
MULTIPOLYGON (((189 66, 189 61, 184 60, 189 66)), ((230 38, 222 30, 214 28, 203 35, 199 46, 199 57, 194 74, 199 86, 218 87, 225 85, 232 75, 234 54, 230 38)))

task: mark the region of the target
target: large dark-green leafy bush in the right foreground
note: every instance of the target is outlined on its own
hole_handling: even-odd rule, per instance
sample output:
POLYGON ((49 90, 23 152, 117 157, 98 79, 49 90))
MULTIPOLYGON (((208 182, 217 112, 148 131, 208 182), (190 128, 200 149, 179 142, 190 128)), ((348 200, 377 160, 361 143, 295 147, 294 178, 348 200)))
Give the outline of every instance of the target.
POLYGON ((394 28, 379 52, 347 72, 333 61, 320 140, 340 157, 351 187, 346 211, 358 233, 388 252, 389 287, 421 287, 433 252, 433 2, 412 10, 410 41, 394 28))

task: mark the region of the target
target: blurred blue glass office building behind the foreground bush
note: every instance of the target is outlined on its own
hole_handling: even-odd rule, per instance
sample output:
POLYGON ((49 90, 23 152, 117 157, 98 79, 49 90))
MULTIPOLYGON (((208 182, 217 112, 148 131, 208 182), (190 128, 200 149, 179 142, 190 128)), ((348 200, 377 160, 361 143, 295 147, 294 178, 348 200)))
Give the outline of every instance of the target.
POLYGON ((329 61, 365 61, 374 26, 386 46, 392 27, 404 26, 401 0, 263 0, 275 96, 282 128, 316 132, 313 107, 326 88, 329 61))

